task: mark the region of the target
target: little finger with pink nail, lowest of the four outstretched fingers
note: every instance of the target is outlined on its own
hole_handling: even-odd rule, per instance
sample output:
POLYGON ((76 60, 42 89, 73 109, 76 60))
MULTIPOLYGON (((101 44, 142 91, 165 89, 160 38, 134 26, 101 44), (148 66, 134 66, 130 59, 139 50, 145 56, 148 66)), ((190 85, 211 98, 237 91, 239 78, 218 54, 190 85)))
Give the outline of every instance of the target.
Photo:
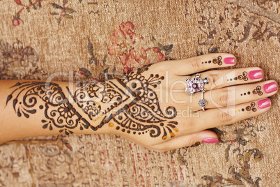
POLYGON ((238 121, 263 114, 270 110, 270 106, 270 98, 265 98, 231 107, 209 109, 205 110, 205 112, 199 111, 199 118, 194 119, 195 124, 197 124, 194 126, 196 128, 194 132, 234 124, 238 121))

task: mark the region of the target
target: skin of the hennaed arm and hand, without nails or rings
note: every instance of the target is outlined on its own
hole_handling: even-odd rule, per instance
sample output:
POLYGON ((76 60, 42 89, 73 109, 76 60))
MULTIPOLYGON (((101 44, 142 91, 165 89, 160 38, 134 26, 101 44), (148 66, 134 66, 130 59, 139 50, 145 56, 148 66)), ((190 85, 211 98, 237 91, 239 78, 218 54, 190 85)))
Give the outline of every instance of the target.
POLYGON ((148 149, 168 151, 202 143, 205 138, 218 138, 208 129, 263 114, 270 106, 260 108, 258 102, 278 91, 278 85, 271 93, 263 89, 274 80, 246 78, 247 73, 260 68, 230 69, 236 58, 235 63, 226 64, 224 59, 228 57, 235 58, 220 53, 163 61, 107 83, 0 80, 0 142, 63 133, 107 133, 121 135, 148 149), (220 62, 214 63, 218 58, 220 62), (210 63, 202 63, 206 61, 210 63), (227 69, 219 70, 224 67, 227 69), (204 85, 205 111, 198 105, 201 92, 194 96, 185 92, 185 78, 192 79, 196 73, 210 80, 204 85), (60 101, 44 98, 50 88, 55 88, 52 96, 59 96, 60 101), (88 89, 93 91, 90 93, 88 89), (44 91, 40 93, 41 90, 44 91), (112 96, 109 103, 105 101, 106 93, 112 96), (137 113, 138 110, 141 112, 137 113), (77 122, 76 126, 70 119, 77 122), (133 125, 137 128, 132 128, 133 125))

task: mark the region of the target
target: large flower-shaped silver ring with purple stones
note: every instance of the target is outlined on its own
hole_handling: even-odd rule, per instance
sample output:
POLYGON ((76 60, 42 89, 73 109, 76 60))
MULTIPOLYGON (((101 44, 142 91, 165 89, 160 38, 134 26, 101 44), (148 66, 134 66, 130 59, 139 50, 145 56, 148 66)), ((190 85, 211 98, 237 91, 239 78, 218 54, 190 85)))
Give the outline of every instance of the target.
POLYGON ((199 73, 196 73, 196 77, 192 78, 191 80, 189 80, 188 78, 185 79, 185 81, 187 81, 187 88, 185 89, 185 91, 189 90, 190 96, 194 96, 194 92, 198 92, 198 91, 202 91, 204 92, 205 89, 203 89, 204 84, 208 84, 209 83, 209 79, 205 78, 204 80, 202 80, 199 77, 199 73))

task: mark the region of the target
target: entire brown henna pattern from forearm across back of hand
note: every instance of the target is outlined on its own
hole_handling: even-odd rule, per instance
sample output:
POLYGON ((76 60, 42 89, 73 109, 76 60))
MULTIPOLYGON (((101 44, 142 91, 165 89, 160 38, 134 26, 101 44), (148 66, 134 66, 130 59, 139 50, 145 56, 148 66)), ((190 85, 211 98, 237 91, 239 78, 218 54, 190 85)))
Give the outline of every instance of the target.
POLYGON ((82 82, 77 84, 74 94, 66 87, 74 103, 70 103, 58 84, 17 83, 12 87, 15 90, 8 96, 6 104, 15 97, 13 109, 18 117, 23 115, 29 118, 30 114, 44 111, 42 128, 53 130, 53 127, 56 127, 66 135, 73 133, 72 129, 77 127, 80 130, 98 130, 104 124, 113 127, 114 124, 110 121, 114 121, 117 124, 116 130, 123 133, 149 133, 150 137, 161 136, 162 140, 168 136, 174 137, 174 133, 178 132, 178 122, 172 120, 176 117, 176 109, 169 106, 162 111, 153 90, 161 84, 164 77, 151 74, 147 79, 141 75, 146 70, 148 66, 139 68, 136 73, 127 73, 107 82, 82 82), (45 104, 38 104, 38 100, 45 104), (79 107, 88 119, 82 117, 75 106, 79 107))

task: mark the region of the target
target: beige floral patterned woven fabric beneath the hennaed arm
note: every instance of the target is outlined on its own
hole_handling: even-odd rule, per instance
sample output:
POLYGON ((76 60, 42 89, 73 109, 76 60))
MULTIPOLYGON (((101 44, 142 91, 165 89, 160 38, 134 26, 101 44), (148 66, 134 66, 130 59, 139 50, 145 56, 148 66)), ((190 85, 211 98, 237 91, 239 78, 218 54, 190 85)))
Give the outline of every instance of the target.
MULTIPOLYGON (((280 77, 277 0, 0 0, 0 79, 104 80, 212 52, 280 77)), ((0 145, 0 186, 279 186, 279 93, 218 144, 157 153, 117 135, 0 145)))

